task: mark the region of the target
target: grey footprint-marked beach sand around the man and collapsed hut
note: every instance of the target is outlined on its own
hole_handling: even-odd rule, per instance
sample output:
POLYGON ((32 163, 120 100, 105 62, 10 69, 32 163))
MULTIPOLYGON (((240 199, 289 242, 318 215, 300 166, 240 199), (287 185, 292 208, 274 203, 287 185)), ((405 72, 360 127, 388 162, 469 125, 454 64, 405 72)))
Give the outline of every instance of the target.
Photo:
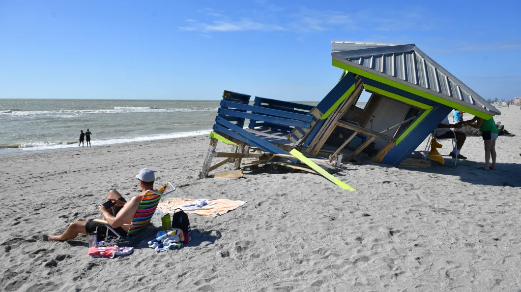
POLYGON ((499 138, 498 170, 477 169, 483 142, 469 137, 457 168, 345 165, 356 192, 307 173, 196 180, 207 137, 0 156, 0 290, 518 290, 521 110, 501 110, 517 136, 499 138), (91 259, 85 236, 41 241, 99 217, 110 188, 137 194, 143 167, 178 186, 172 197, 247 203, 190 215, 192 242, 161 254, 91 259))

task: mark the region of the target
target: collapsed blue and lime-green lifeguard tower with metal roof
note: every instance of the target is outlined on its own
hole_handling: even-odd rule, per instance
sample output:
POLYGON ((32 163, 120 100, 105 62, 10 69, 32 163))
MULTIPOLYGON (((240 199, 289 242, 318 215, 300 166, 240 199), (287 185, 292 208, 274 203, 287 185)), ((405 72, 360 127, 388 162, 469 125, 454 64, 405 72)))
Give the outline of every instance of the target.
POLYGON ((501 114, 414 44, 332 42, 331 56, 343 73, 316 107, 261 97, 251 105, 251 96, 225 91, 200 177, 230 161, 240 168, 245 157, 302 167, 292 150, 314 162, 398 166, 453 109, 501 114), (362 109, 363 90, 371 95, 362 109), (217 138, 237 145, 234 153, 215 152, 217 138), (227 159, 211 166, 212 157, 227 159))

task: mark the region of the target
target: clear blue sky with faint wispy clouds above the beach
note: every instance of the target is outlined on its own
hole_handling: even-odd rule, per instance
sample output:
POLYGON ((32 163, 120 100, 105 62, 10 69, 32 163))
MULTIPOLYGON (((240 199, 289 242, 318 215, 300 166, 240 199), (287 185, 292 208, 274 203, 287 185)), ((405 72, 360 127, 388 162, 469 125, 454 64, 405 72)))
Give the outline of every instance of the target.
POLYGON ((2 1, 0 98, 316 101, 333 40, 414 43, 484 98, 521 96, 518 1, 411 3, 2 1))

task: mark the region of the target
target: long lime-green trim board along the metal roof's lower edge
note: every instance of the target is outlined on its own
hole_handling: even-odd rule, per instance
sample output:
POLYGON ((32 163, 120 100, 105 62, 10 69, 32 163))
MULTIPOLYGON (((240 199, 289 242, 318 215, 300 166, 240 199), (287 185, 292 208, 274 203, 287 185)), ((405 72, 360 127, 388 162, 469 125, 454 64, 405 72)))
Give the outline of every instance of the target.
POLYGON ((478 116, 478 117, 481 117, 481 118, 485 118, 487 120, 490 117, 492 117, 492 115, 480 112, 480 111, 478 111, 476 109, 467 107, 467 106, 465 106, 463 104, 460 104, 460 103, 457 103, 457 102, 454 102, 454 101, 450 101, 450 100, 441 98, 439 96, 435 96, 435 95, 429 94, 427 92, 421 91, 421 90, 413 88, 411 86, 407 86, 407 85, 401 84, 399 82, 393 81, 393 80, 391 80, 389 78, 382 77, 382 76, 379 76, 377 74, 374 74, 374 73, 367 72, 365 70, 359 69, 357 67, 354 67, 353 65, 345 64, 345 63, 342 63, 342 62, 337 61, 337 60, 332 60, 332 61, 333 61, 332 64, 333 64, 334 67, 338 67, 340 69, 347 70, 347 71, 353 72, 355 74, 371 78, 371 79, 373 79, 375 81, 381 82, 383 84, 387 84, 389 86, 392 86, 392 87, 395 87, 395 88, 398 88, 398 89, 402 89, 404 91, 410 92, 410 93, 415 94, 417 96, 424 97, 426 99, 429 99, 429 100, 432 100, 432 101, 444 104, 444 105, 446 105, 448 107, 451 107, 451 108, 454 108, 454 109, 458 109, 458 110, 463 110, 466 113, 469 113, 469 114, 472 114, 472 115, 475 115, 475 116, 478 116))

